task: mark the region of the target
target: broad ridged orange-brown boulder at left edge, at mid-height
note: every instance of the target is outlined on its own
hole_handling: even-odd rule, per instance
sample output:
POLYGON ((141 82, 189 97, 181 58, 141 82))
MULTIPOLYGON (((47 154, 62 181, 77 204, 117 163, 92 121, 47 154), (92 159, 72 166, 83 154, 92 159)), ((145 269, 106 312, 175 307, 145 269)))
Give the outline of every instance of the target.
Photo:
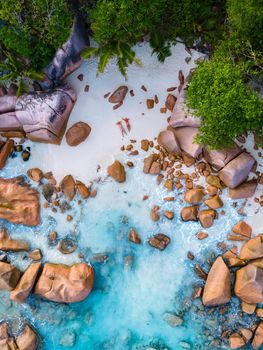
POLYGON ((39 193, 23 177, 0 178, 0 218, 14 224, 37 226, 40 222, 39 193))

